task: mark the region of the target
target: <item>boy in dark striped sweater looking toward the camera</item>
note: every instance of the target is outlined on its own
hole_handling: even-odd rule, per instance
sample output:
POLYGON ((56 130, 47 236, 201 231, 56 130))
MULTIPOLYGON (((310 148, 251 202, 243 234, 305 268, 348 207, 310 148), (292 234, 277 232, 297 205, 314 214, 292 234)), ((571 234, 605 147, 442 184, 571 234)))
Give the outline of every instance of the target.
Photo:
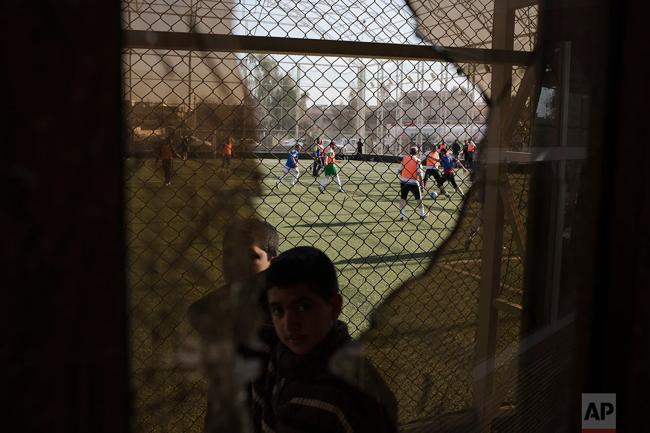
POLYGON ((265 297, 274 332, 261 335, 269 350, 252 382, 253 431, 396 432, 395 397, 368 360, 362 386, 328 368, 351 341, 331 260, 312 246, 284 252, 266 271, 265 297))

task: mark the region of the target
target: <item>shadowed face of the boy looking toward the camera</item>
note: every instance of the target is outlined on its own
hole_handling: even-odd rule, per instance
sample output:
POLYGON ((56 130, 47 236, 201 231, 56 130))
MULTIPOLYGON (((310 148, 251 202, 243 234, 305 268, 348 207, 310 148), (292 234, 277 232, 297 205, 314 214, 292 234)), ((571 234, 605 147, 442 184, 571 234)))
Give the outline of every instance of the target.
POLYGON ((306 354, 323 341, 341 314, 343 302, 337 293, 326 303, 306 284, 271 287, 266 296, 278 337, 296 355, 306 354))

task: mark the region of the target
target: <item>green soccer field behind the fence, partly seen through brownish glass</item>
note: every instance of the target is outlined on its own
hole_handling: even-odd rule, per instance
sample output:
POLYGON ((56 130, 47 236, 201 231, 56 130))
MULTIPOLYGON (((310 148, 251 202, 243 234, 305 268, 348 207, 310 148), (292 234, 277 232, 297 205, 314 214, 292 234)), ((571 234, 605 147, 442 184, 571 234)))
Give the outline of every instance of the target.
MULTIPOLYGON (((313 245, 328 254, 339 270, 342 319, 357 335, 383 297, 428 267, 430 254, 458 223, 461 196, 450 187, 451 199, 426 196, 429 216, 424 220, 415 212, 415 200, 409 198, 408 220, 402 222, 397 206, 398 164, 346 161, 339 164, 346 193, 338 193, 330 181, 320 194, 322 176, 311 176, 307 170, 311 161, 300 161, 300 178, 294 187, 289 187, 289 174, 279 189, 272 190, 284 161, 246 161, 257 165, 263 185, 261 195, 248 203, 250 207, 242 207, 242 214, 254 211, 275 226, 280 251, 313 245)), ((205 383, 191 369, 161 373, 156 365, 162 355, 178 352, 185 337, 192 335, 184 319, 189 304, 223 283, 219 228, 205 224, 201 209, 209 208, 215 191, 235 191, 245 183, 240 177, 250 170, 239 164, 242 161, 234 160, 233 173, 226 175, 218 172, 218 159, 175 160, 172 184, 164 187, 161 164, 153 159, 125 162, 131 369, 136 425, 142 431, 201 430, 205 383)), ((458 170, 457 180, 467 192, 469 174, 458 170)), ((428 186, 439 192, 433 179, 428 186)), ((400 402, 402 421, 415 419, 419 410, 430 412, 435 402, 451 402, 453 407, 446 410, 458 410, 471 399, 471 388, 466 388, 471 386, 474 361, 480 253, 476 247, 465 250, 456 239, 445 254, 447 263, 391 306, 399 310, 404 323, 385 328, 369 345, 368 355, 400 402), (420 362, 409 355, 414 351, 421 352, 420 362), (450 385, 450 378, 458 383, 450 385), (426 381, 440 393, 450 387, 456 391, 453 396, 431 397, 426 407, 418 409, 426 381)), ((516 333, 503 332, 510 337, 516 333)))

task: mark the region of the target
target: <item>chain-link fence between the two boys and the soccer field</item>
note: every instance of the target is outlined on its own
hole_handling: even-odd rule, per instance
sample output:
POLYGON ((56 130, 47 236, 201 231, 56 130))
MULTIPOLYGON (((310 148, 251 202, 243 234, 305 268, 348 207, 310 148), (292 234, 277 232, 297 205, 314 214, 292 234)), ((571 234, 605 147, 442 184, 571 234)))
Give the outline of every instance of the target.
MULTIPOLYGON (((300 2, 311 5, 300 9, 312 11, 305 14, 290 3, 125 1, 123 21, 135 31, 422 44, 406 5, 300 2), (335 25, 326 20, 331 14, 339 16, 335 25)), ((536 9, 517 13, 517 49, 532 49, 536 9)), ((486 145, 489 65, 159 47, 129 47, 122 58, 138 430, 203 428, 207 384, 196 368, 199 337, 187 309, 226 283, 222 238, 238 217, 272 224, 280 251, 306 244, 328 254, 353 337, 406 284, 383 304, 366 344, 398 400, 400 423, 472 406, 482 267, 481 232, 468 240, 480 217, 474 192, 464 214, 461 208, 480 164, 474 159, 486 145), (340 185, 323 183, 313 155, 330 145, 341 159, 340 185), (422 190, 424 218, 412 196, 404 213, 398 205, 398 167, 411 146, 433 169, 422 190), (456 158, 445 167, 458 183, 458 189, 446 185, 448 198, 436 185, 439 163, 432 165, 443 150, 456 158)), ((513 94, 524 72, 515 69, 513 94)), ((529 106, 510 150, 530 145, 529 106)), ((525 166, 508 166, 502 187, 520 221, 508 215, 504 222, 500 298, 521 305, 523 261, 514 231, 526 220, 525 166)), ((519 318, 502 313, 497 382, 519 333, 519 318)), ((514 391, 507 400, 515 403, 514 391)))

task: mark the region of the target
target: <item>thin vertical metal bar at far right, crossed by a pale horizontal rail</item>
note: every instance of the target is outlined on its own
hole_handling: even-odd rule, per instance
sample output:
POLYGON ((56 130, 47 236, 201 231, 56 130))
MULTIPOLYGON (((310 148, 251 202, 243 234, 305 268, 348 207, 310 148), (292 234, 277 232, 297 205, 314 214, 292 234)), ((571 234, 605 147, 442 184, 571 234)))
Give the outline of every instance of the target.
MULTIPOLYGON (((571 42, 562 43, 562 70, 560 101, 560 147, 567 146, 569 129, 569 81, 571 80, 571 42)), ((564 235, 564 207, 566 201, 566 160, 557 161, 555 228, 551 231, 551 323, 558 321, 560 303, 560 273, 562 272, 562 244, 564 235)))

